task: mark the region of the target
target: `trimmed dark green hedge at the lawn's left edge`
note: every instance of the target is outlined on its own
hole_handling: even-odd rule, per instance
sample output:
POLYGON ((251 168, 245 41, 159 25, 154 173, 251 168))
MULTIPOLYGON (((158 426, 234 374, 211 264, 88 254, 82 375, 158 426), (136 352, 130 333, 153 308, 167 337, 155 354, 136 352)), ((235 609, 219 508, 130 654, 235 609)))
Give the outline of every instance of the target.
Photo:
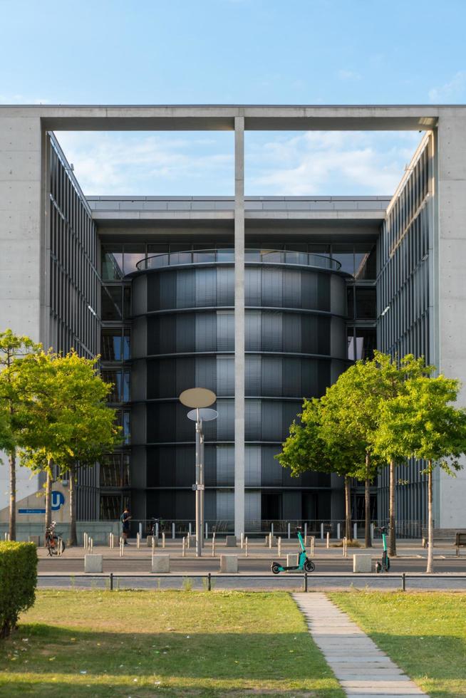
POLYGON ((36 583, 34 543, 0 542, 0 637, 9 635, 21 611, 33 605, 36 583))

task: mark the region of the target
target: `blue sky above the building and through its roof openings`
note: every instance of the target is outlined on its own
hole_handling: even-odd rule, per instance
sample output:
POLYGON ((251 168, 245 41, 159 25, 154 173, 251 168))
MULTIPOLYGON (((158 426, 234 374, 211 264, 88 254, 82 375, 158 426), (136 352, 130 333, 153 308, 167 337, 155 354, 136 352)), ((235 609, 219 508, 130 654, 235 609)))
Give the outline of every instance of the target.
MULTIPOLYGON (((0 102, 464 103, 464 0, 0 0, 0 102)), ((231 194, 232 135, 58 135, 88 194, 231 194)), ((388 194, 419 134, 247 137, 249 194, 388 194)))

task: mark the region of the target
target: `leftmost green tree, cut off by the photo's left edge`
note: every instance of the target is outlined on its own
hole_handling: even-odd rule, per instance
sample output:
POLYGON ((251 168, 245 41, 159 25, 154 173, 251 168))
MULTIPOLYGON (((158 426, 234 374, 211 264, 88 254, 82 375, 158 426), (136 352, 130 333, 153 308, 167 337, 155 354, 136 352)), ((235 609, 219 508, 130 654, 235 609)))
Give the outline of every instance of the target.
POLYGON ((21 361, 41 346, 29 337, 15 335, 10 329, 0 333, 0 447, 9 462, 9 536, 16 540, 16 452, 21 446, 24 401, 18 385, 21 361))

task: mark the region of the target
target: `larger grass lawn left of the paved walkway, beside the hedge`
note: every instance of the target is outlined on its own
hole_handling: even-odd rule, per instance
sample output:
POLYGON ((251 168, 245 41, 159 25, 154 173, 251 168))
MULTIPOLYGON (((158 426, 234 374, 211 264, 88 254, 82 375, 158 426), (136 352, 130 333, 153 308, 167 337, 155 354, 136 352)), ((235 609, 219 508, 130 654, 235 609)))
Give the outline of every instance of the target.
POLYGON ((41 590, 0 695, 343 698, 286 593, 41 590))

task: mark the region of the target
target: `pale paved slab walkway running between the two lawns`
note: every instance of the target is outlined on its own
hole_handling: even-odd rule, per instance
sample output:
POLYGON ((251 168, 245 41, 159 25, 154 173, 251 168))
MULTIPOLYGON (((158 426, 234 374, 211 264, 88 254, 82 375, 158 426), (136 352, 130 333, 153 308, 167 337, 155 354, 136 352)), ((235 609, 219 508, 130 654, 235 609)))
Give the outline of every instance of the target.
POLYGON ((426 694, 325 594, 295 593, 312 638, 350 698, 426 694))

